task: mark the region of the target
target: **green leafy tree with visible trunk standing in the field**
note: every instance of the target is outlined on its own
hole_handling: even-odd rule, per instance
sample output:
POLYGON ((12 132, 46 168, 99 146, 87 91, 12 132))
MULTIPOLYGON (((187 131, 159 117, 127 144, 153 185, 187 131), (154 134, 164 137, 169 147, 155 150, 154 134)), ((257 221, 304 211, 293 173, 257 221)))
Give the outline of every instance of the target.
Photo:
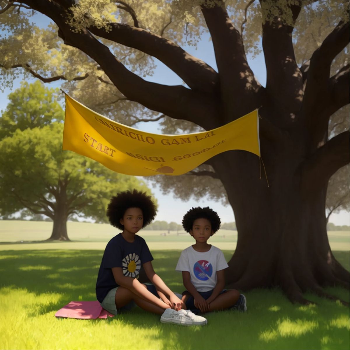
POLYGON ((0 211, 6 215, 28 209, 52 219, 49 239, 69 240, 70 215, 106 222, 110 197, 118 191, 140 189, 136 177, 112 172, 101 164, 65 151, 59 177, 63 124, 17 130, 0 141, 0 211))

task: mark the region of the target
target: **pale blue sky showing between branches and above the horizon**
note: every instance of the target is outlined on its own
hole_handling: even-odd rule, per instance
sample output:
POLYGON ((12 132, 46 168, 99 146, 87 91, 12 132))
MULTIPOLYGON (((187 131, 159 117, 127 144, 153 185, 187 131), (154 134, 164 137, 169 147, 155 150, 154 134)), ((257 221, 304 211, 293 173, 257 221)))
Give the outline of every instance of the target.
MULTIPOLYGON (((36 15, 32 20, 37 23, 38 26, 47 26, 48 21, 44 16, 36 15)), ((197 48, 194 47, 184 47, 191 55, 201 58, 203 61, 207 62, 212 68, 217 69, 215 62, 214 50, 212 47, 212 42, 209 41, 209 35, 204 35, 202 40, 198 43, 197 48)), ((160 84, 166 85, 180 85, 182 79, 178 77, 174 72, 172 72, 167 66, 156 59, 157 68, 154 71, 153 76, 146 77, 146 80, 157 82, 160 84)), ((248 57, 248 63, 251 66, 251 69, 254 72, 254 75, 259 80, 260 84, 265 86, 266 84, 266 69, 265 69, 265 60, 264 56, 261 54, 255 59, 248 57)), ((35 79, 31 79, 34 82, 35 79)), ((0 98, 0 110, 4 110, 8 103, 7 95, 14 89, 20 86, 20 79, 15 80, 13 89, 5 89, 1 93, 0 98)), ((59 86, 59 82, 54 82, 47 84, 51 87, 59 86)), ((158 123, 139 123, 137 128, 151 133, 160 133, 158 123)), ((159 175, 163 176, 163 175, 159 175)), ((173 194, 163 195, 158 188, 152 188, 152 191, 155 197, 158 200, 159 211, 156 216, 156 220, 165 220, 165 221, 175 221, 181 223, 182 216, 186 211, 191 207, 197 206, 209 206, 215 211, 218 212, 219 216, 222 219, 222 222, 232 222, 235 221, 232 208, 230 206, 224 206, 219 202, 211 201, 206 198, 203 200, 194 200, 190 199, 185 202, 179 199, 175 199, 173 194)), ((349 225, 350 217, 349 213, 342 211, 340 214, 332 214, 330 217, 330 222, 335 223, 336 225, 349 225)))

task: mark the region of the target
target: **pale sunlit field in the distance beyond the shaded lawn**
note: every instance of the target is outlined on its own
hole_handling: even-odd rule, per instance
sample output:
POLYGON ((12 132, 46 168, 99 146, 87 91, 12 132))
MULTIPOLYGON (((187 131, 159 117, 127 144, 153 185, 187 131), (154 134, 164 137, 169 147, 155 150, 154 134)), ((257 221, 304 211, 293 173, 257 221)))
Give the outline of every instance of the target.
MULTIPOLYGON (((68 236, 73 242, 28 243, 50 237, 51 222, 0 221, 0 250, 19 249, 101 249, 119 231, 109 224, 68 222, 68 236), (23 241, 23 242, 22 242, 23 241), (12 243, 12 244, 11 244, 12 243)), ((141 230, 140 235, 147 241, 151 250, 183 250, 193 244, 193 238, 184 232, 141 230), (166 233, 166 236, 161 234, 166 233)), ((350 235, 346 231, 328 232, 332 250, 350 251, 350 235)), ((237 231, 219 230, 210 238, 210 243, 220 249, 235 250, 237 231)))

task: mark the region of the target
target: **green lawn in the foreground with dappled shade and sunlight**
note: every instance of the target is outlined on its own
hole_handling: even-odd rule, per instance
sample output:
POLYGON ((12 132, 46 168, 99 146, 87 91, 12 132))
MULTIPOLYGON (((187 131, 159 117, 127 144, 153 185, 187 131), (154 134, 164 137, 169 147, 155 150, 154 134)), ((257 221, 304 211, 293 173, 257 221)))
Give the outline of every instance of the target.
MULTIPOLYGON (((247 292, 247 313, 210 313, 202 327, 162 324, 138 308, 107 320, 56 319, 70 301, 95 300, 103 251, 26 246, 0 252, 0 349, 349 349, 349 308, 312 294, 317 305, 291 304, 279 290, 247 292)), ((181 292, 180 251, 153 255, 156 272, 181 292)), ((349 252, 335 256, 349 269, 349 252)), ((327 291, 349 300, 348 290, 327 291)))

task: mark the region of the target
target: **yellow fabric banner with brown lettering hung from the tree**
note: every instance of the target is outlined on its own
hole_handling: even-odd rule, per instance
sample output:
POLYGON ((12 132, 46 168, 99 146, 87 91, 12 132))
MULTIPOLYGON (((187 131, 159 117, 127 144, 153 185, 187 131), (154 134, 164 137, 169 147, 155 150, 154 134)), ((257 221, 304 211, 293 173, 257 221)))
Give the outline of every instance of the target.
POLYGON ((66 95, 63 149, 127 175, 182 175, 231 149, 260 156, 258 110, 219 128, 158 135, 119 124, 66 95))

